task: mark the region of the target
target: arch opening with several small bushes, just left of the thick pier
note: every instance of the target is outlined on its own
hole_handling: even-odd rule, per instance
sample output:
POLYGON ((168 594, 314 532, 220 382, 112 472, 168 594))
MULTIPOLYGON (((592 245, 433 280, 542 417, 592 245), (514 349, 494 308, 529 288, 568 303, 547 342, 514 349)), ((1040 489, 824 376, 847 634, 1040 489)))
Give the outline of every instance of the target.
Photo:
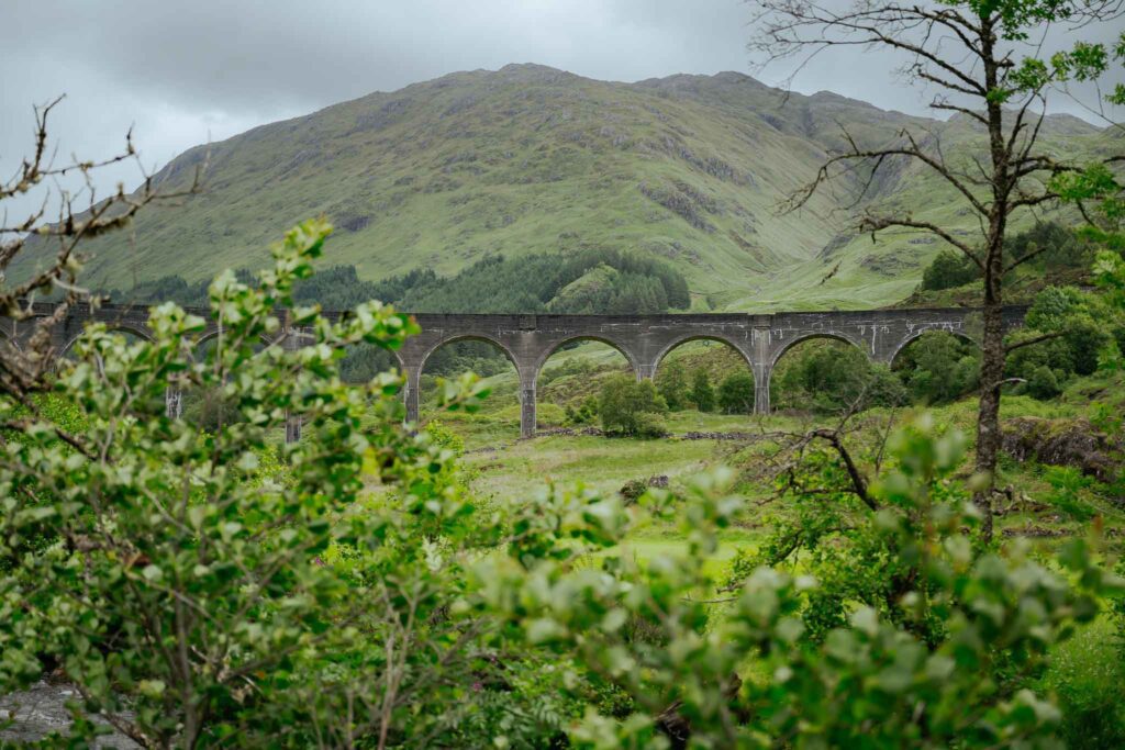
POLYGON ((757 379, 746 354, 718 336, 690 336, 666 347, 656 388, 670 418, 702 427, 703 415, 748 416, 759 405, 757 379))

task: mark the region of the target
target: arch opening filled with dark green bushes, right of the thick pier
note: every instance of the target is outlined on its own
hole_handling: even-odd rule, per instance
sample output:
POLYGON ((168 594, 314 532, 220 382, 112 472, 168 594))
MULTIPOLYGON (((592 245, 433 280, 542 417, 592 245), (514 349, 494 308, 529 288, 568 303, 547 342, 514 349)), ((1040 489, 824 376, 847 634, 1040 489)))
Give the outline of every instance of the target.
POLYGON ((904 399, 890 368, 872 362, 854 341, 831 334, 786 344, 774 355, 767 378, 770 401, 780 412, 830 415, 904 399))

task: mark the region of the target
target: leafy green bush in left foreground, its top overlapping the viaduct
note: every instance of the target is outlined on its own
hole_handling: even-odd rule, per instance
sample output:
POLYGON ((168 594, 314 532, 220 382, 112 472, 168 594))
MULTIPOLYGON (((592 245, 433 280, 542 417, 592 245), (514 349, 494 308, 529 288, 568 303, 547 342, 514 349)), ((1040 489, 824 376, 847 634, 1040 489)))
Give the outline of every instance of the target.
MULTIPOLYGON (((0 559, 19 562, 0 575, 0 689, 61 665, 80 713, 150 747, 436 737, 485 711, 461 686, 495 669, 449 612, 459 555, 489 533, 467 524, 457 446, 402 426, 396 377, 336 377, 349 346, 396 347, 413 324, 377 302, 336 324, 295 307, 310 343, 258 346, 286 335, 273 306, 291 305, 327 231, 287 234, 258 289, 215 280, 225 335, 202 360, 205 322, 173 304, 152 310, 154 342, 91 326, 51 408, 4 439, 0 559), (170 385, 218 391, 237 419, 209 433, 166 418, 170 385), (269 435, 287 413, 308 440, 279 459, 269 435), (382 707, 344 719, 357 705, 382 707)), ((19 408, 0 400, 4 418, 19 408)))

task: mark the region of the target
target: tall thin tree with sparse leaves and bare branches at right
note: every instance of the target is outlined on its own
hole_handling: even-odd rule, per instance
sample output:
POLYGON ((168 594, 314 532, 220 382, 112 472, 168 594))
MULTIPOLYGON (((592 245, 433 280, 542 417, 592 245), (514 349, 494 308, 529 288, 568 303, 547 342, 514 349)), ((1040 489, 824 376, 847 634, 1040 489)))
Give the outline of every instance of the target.
MULTIPOLYGON (((816 177, 788 200, 804 206, 829 181, 858 179, 855 206, 863 202, 882 172, 902 160, 929 170, 974 214, 980 233, 970 240, 950 227, 868 205, 857 228, 875 234, 899 227, 936 235, 968 257, 983 279, 983 356, 976 421, 976 471, 993 477, 1000 449, 999 405, 1004 383, 1004 277, 1035 254, 1012 257, 1005 252, 1009 223, 1017 215, 1064 197, 1060 175, 1078 174, 1079 165, 1062 164, 1038 146, 1047 92, 1068 81, 1089 81, 1104 73, 1114 57, 1125 58, 1125 44, 1076 43, 1069 53, 1038 56, 1036 40, 1050 25, 1100 22, 1115 18, 1115 0, 946 0, 899 3, 855 0, 846 8, 816 0, 754 0, 757 31, 750 48, 763 64, 814 55, 834 46, 865 46, 904 56, 912 82, 934 90, 930 107, 954 112, 981 128, 984 157, 951 162, 942 151, 940 133, 904 129, 891 145, 865 145, 845 133, 847 147, 830 156, 816 177)), ((1115 94, 1125 100, 1125 89, 1115 94)), ((1119 157, 1110 157, 1117 161, 1119 157)), ((1102 168, 1102 172, 1108 170, 1102 168)), ((989 516, 983 535, 991 537, 991 479, 975 499, 989 516)))

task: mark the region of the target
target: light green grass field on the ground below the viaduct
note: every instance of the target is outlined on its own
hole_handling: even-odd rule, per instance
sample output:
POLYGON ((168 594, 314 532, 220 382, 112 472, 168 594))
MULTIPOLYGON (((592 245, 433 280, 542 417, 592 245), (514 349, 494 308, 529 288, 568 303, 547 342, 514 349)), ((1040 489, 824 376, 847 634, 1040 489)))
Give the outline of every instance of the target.
MULTIPOLYGON (((580 355, 574 354, 574 355, 580 355)), ((503 376, 498 377, 501 380, 503 376)), ((1102 395, 1120 392, 1118 378, 1087 378, 1071 385, 1056 401, 1041 403, 1027 397, 1005 399, 1002 416, 1038 417, 1043 419, 1088 416, 1092 392, 1102 395)), ((608 437, 590 434, 551 434, 520 440, 519 426, 508 415, 510 407, 490 405, 474 415, 449 414, 438 418, 465 441, 462 464, 475 477, 472 490, 483 498, 529 500, 547 485, 580 485, 602 494, 619 491, 627 482, 652 477, 667 477, 673 493, 682 490, 694 475, 719 464, 735 467, 742 479, 738 491, 748 500, 747 509, 738 524, 723 532, 718 555, 720 564, 712 570, 717 581, 723 579, 721 564, 736 553, 753 551, 771 532, 788 508, 777 503, 759 505, 771 495, 768 477, 757 471, 768 453, 755 439, 741 440, 686 440, 685 433, 748 433, 803 432, 813 426, 835 424, 835 419, 811 416, 771 415, 750 417, 739 415, 700 414, 685 410, 668 415, 670 436, 639 440, 608 437)), ((849 440, 862 451, 865 443, 888 424, 902 425, 926 409, 912 408, 889 412, 874 409, 856 419, 856 432, 849 440)), ((975 401, 965 399, 956 404, 929 409, 939 423, 962 431, 972 441, 975 401)), ((518 413, 516 413, 518 414, 518 413)), ((963 476, 971 466, 966 461, 963 476)), ((1053 533, 1082 534, 1086 522, 1051 507, 1055 488, 1050 481, 1051 469, 1030 461, 1016 461, 1006 457, 1001 462, 998 485, 1012 487, 1018 495, 1045 501, 1042 506, 1018 506, 997 519, 1002 534, 1010 539, 1037 536, 1045 527, 1053 533)), ((1109 534, 1125 531, 1125 513, 1119 504, 1089 488, 1078 490, 1080 501, 1091 514, 1102 516, 1109 534)), ((1007 542, 1006 542, 1007 543, 1007 542)), ((1050 552, 1058 539, 1034 539, 1033 545, 1050 552)), ((1114 542, 1116 543, 1116 542, 1114 542)), ((676 554, 686 550, 686 542, 675 524, 648 522, 629 537, 626 554, 648 560, 662 554, 676 554)))

